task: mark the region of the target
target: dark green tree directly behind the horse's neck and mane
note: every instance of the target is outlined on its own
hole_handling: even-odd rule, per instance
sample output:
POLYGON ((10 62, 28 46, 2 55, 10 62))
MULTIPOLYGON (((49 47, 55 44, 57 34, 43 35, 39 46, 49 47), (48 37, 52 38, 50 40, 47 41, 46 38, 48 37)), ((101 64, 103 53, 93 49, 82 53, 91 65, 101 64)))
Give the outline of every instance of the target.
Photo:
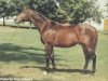
POLYGON ((65 14, 56 5, 54 0, 29 0, 28 5, 53 21, 63 22, 65 14))

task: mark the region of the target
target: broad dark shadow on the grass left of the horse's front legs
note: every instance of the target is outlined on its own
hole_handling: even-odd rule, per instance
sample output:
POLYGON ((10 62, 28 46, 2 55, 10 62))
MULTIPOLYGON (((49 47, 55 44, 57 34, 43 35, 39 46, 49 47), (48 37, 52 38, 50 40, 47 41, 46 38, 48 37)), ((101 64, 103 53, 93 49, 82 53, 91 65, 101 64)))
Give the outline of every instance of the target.
POLYGON ((44 50, 32 46, 19 46, 13 43, 2 43, 0 44, 0 62, 37 62, 44 64, 44 53, 39 53, 38 51, 43 52, 44 50))

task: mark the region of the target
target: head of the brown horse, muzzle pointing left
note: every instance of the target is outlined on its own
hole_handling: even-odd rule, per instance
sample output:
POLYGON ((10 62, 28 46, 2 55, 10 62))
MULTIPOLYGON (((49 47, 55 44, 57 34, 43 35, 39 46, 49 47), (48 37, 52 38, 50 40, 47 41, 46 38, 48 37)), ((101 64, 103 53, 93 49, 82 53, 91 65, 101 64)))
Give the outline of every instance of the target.
POLYGON ((19 23, 23 23, 23 22, 29 22, 30 21, 29 13, 30 13, 30 10, 24 10, 21 14, 18 14, 16 16, 14 22, 16 24, 19 24, 19 23))

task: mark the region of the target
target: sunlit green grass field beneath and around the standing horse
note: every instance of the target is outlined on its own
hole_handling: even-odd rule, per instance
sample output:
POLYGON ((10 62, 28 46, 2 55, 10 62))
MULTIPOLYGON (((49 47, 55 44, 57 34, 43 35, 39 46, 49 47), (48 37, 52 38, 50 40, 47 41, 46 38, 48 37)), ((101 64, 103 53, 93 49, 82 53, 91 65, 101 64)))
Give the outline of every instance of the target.
POLYGON ((12 38, 15 30, 12 27, 0 26, 0 78, 33 81, 108 81, 108 31, 98 32, 96 73, 92 76, 81 73, 84 55, 80 45, 69 49, 55 48, 57 70, 44 75, 44 45, 40 41, 38 30, 18 28, 12 38))

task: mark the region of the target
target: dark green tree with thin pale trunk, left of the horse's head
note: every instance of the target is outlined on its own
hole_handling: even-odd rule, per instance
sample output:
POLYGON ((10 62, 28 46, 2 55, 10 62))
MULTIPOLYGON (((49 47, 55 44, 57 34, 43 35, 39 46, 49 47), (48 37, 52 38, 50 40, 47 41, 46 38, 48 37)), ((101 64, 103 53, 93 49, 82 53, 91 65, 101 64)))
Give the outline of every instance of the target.
POLYGON ((24 3, 24 0, 0 0, 0 17, 3 17, 3 25, 5 25, 5 17, 22 12, 24 3))

